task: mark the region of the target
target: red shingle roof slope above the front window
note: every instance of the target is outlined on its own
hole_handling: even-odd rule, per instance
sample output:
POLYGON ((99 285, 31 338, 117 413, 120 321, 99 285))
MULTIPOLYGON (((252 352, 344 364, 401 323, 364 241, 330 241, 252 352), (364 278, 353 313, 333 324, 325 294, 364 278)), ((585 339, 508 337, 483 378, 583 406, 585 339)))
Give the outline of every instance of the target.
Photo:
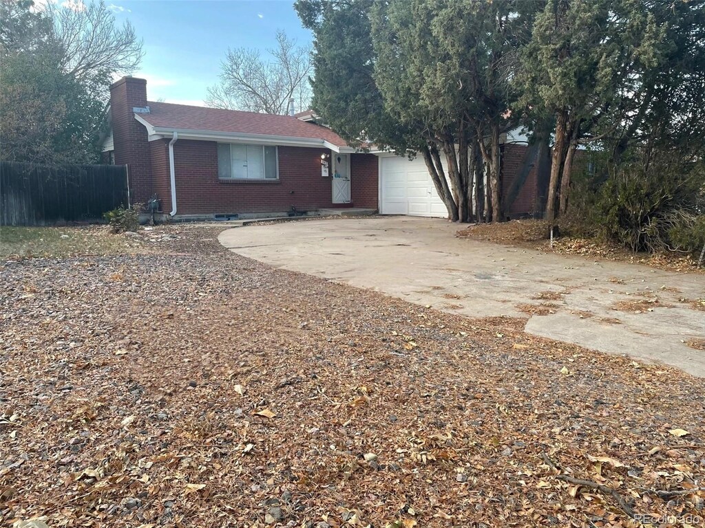
POLYGON ((140 118, 154 127, 324 139, 335 146, 347 146, 333 130, 289 115, 240 112, 154 101, 147 104, 149 113, 141 113, 140 118))

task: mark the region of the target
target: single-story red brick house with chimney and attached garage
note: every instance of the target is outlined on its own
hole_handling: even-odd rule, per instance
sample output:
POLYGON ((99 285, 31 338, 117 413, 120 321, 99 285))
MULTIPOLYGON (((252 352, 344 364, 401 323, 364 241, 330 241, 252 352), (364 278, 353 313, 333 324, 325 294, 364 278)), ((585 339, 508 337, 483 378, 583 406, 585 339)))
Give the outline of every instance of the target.
MULTIPOLYGON (((297 118, 147 101, 147 81, 135 77, 123 77, 110 91, 104 156, 128 165, 131 203, 157 196, 161 212, 175 218, 353 206, 446 216, 421 158, 356 151, 310 113, 297 118)), ((505 196, 514 195, 508 216, 532 213, 540 201, 540 164, 524 163, 526 154, 526 146, 503 145, 505 196), (513 185, 517 177, 524 180, 520 188, 513 185)))

